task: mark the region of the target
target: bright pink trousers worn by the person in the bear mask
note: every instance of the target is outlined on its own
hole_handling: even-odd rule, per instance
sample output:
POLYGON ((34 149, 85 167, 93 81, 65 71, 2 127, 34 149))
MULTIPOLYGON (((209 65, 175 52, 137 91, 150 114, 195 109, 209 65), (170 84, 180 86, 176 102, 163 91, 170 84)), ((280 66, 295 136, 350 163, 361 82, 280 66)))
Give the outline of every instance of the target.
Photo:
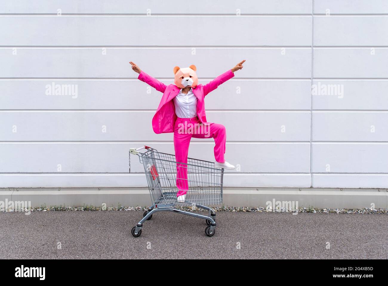
POLYGON ((191 138, 214 138, 214 157, 217 162, 225 162, 226 130, 222 124, 212 123, 204 126, 197 117, 177 118, 174 126, 174 148, 177 162, 177 197, 189 190, 187 181, 187 155, 191 138))

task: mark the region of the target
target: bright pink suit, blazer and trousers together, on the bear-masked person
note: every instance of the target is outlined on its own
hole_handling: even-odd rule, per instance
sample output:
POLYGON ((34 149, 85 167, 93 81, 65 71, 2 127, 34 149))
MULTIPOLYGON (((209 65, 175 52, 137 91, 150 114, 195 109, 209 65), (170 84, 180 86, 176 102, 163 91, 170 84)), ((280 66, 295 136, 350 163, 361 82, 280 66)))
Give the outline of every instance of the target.
POLYGON ((178 95, 180 88, 175 84, 165 85, 159 82, 156 78, 147 75, 145 72, 140 72, 138 79, 151 85, 157 91, 163 92, 163 96, 159 103, 158 109, 154 117, 152 118, 152 129, 156 134, 160 133, 174 133, 174 148, 175 158, 177 162, 183 164, 177 164, 177 196, 186 194, 189 189, 187 182, 187 154, 189 152, 189 144, 192 137, 194 138, 214 138, 214 157, 217 162, 225 162, 225 143, 226 143, 226 131, 225 127, 221 124, 215 124, 207 122, 204 98, 205 96, 215 90, 218 85, 223 84, 230 78, 234 77, 232 70, 219 75, 215 79, 211 80, 208 84, 199 84, 192 88, 192 92, 198 99, 197 103, 197 117, 193 119, 180 119, 175 115, 175 105, 173 98, 178 95), (206 134, 198 134, 197 132, 178 132, 179 124, 184 124, 184 121, 189 121, 191 124, 199 127, 197 124, 203 124, 202 130, 206 129, 206 134), (209 135, 209 137, 207 137, 209 135))

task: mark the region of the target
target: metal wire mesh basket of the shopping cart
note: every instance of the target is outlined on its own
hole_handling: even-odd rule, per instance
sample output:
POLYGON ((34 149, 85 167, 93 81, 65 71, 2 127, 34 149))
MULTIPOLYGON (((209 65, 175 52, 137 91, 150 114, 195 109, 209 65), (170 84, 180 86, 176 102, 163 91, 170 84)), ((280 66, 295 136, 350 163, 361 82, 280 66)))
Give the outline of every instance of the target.
POLYGON ((152 149, 138 155, 144 165, 152 204, 222 204, 223 169, 215 168, 214 162, 188 158, 187 164, 179 163, 175 155, 152 149), (184 203, 177 202, 177 185, 188 188, 184 203))

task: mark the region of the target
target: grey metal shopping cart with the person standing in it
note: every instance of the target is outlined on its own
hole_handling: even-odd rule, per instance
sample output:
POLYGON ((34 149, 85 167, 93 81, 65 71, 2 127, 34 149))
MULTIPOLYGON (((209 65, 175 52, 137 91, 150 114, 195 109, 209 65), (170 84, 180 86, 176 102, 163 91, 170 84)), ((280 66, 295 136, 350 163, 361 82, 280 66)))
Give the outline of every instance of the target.
MULTIPOLYGON (((152 214, 157 211, 173 211, 183 215, 195 216, 206 220, 208 227, 205 234, 215 234, 215 212, 209 205, 222 204, 222 180, 223 169, 215 168, 214 162, 188 158, 187 164, 178 163, 175 155, 161 153, 149 146, 130 148, 129 156, 138 155, 140 163, 144 165, 152 206, 143 214, 143 219, 132 228, 132 235, 138 237, 142 234, 143 223, 150 220, 152 214), (145 149, 146 152, 140 153, 145 149), (185 196, 185 202, 177 201, 177 164, 187 171, 187 179, 184 183, 189 190, 185 196), (204 206, 208 205, 208 206, 204 206), (200 215, 189 211, 177 209, 175 206, 191 206, 203 208, 209 211, 209 215, 200 215)), ((130 158, 129 158, 130 162, 130 158)), ((180 169, 182 171, 182 169, 180 169)))

